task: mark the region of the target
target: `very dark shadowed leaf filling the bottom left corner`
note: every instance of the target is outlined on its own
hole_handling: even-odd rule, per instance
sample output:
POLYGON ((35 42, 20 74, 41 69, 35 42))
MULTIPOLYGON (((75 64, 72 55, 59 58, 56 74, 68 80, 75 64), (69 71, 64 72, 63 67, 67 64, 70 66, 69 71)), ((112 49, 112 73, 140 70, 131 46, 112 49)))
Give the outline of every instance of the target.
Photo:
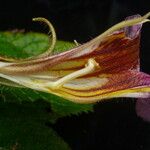
POLYGON ((0 101, 0 150, 70 150, 46 123, 49 103, 0 101))

